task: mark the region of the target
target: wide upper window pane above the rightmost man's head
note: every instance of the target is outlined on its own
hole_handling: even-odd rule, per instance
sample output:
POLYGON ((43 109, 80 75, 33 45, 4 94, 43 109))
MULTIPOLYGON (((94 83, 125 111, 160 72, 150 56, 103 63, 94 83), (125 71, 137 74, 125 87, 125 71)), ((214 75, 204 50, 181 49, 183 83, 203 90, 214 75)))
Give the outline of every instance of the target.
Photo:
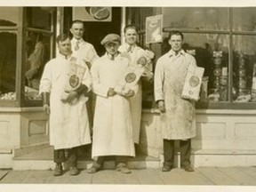
POLYGON ((228 8, 163 8, 164 27, 227 30, 228 8))

